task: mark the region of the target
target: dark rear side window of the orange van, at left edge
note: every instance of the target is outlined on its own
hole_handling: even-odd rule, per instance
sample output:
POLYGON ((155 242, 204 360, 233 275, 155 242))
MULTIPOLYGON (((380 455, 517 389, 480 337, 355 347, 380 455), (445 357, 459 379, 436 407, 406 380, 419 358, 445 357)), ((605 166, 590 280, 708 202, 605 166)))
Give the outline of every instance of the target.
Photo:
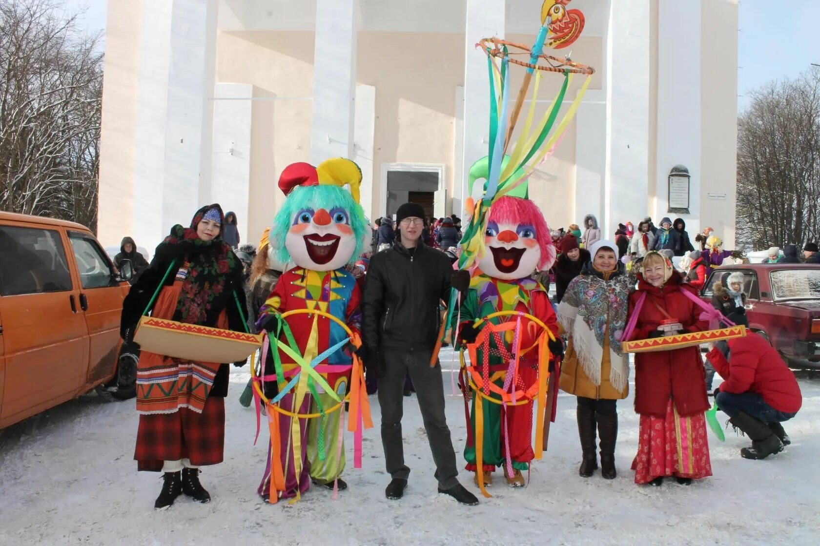
POLYGON ((71 290, 60 233, 0 226, 0 296, 71 290))

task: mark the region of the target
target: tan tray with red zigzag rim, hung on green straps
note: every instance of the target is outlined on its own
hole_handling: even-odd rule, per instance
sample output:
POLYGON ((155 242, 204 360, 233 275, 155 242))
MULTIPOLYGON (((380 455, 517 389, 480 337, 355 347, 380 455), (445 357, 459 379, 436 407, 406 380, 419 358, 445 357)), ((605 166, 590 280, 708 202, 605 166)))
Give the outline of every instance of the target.
POLYGON ((262 345, 262 335, 143 317, 134 341, 141 350, 175 359, 231 363, 247 359, 257 350, 262 345))

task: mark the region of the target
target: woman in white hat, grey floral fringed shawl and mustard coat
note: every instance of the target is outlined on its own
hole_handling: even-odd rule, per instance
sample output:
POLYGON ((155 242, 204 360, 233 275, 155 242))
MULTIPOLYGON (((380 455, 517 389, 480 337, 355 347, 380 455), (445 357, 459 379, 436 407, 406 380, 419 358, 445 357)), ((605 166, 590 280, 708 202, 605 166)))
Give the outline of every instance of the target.
POLYGON ((612 241, 597 241, 590 250, 592 260, 572 279, 558 305, 558 321, 570 336, 558 385, 578 397, 576 417, 583 453, 578 474, 589 477, 598 468, 597 425, 601 475, 612 480, 617 475, 615 404, 629 393, 621 336, 635 278, 626 274, 612 241))

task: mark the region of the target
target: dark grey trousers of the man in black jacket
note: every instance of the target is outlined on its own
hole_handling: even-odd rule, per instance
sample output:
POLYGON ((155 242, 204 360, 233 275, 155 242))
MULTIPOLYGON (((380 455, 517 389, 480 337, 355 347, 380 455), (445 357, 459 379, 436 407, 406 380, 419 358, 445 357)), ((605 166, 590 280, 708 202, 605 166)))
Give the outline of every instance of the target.
POLYGON ((393 478, 408 479, 410 468, 404 464, 402 415, 404 377, 409 373, 416 388, 418 407, 424 420, 427 440, 435 462, 435 478, 442 489, 458 484, 456 454, 450 429, 444 416, 444 381, 441 365, 430 368, 432 351, 382 351, 385 369, 379 377, 379 405, 381 407, 381 444, 385 448, 387 472, 393 478))

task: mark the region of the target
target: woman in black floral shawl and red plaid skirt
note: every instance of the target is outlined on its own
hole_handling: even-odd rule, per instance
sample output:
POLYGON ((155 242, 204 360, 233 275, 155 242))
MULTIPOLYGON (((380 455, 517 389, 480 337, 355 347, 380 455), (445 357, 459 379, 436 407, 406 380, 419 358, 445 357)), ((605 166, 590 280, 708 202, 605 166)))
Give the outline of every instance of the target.
MULTIPOLYGON (((157 246, 150 268, 123 302, 120 333, 132 350, 139 350, 134 332, 147 311, 180 323, 247 331, 242 264, 221 238, 224 220, 219 205, 204 206, 189 228, 175 225, 157 246)), ((199 483, 199 467, 222 462, 227 392, 225 363, 140 354, 134 459, 138 470, 165 473, 154 508, 170 507, 181 493, 200 503, 211 500, 199 483)))

